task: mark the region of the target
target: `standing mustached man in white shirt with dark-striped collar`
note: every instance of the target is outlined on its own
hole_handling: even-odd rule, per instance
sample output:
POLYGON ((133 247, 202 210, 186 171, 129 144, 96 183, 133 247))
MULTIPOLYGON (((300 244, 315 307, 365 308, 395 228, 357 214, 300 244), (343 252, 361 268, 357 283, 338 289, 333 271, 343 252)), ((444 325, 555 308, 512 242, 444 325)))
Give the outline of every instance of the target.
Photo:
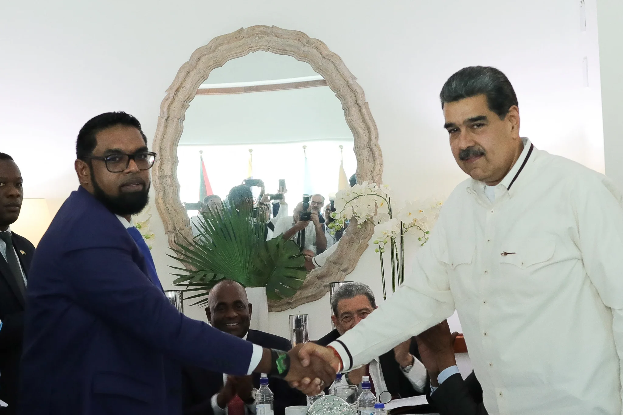
POLYGON ((471 179, 404 286, 331 343, 335 355, 308 346, 303 356, 348 371, 457 309, 489 414, 621 414, 621 194, 520 138, 515 92, 497 69, 460 70, 440 98, 471 179))

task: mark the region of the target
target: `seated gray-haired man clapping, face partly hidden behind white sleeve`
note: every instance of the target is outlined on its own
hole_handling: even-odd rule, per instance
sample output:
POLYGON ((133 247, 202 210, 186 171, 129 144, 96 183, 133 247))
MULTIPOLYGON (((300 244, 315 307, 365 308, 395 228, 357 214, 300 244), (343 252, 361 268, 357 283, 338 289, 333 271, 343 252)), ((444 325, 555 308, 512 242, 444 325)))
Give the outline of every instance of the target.
MULTIPOLYGON (((348 282, 338 287, 331 297, 331 320, 336 329, 318 340, 326 346, 352 329, 377 308, 374 293, 363 282, 348 282)), ((392 398, 409 398, 427 393, 429 381, 426 368, 419 360, 415 338, 397 345, 393 350, 374 358, 368 365, 346 373, 350 385, 359 385, 362 376, 370 376, 372 392, 388 391, 392 398)))

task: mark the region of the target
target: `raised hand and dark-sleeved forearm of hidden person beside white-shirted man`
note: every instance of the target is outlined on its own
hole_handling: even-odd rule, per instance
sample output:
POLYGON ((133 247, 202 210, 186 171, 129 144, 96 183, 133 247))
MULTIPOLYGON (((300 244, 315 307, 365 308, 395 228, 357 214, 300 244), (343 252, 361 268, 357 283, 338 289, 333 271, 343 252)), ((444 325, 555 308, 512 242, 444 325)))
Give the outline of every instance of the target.
POLYGON ((422 363, 430 375, 429 403, 440 415, 487 415, 475 373, 465 380, 454 357, 454 339, 446 320, 417 336, 422 363))

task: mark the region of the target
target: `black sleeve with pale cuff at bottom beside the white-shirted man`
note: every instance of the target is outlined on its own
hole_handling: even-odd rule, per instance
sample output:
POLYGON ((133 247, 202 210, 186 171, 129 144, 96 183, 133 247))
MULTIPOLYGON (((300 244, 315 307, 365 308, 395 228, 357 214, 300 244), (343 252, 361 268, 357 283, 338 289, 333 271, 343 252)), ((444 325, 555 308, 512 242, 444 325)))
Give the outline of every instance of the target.
POLYGON ((482 388, 473 372, 465 381, 460 373, 447 378, 430 394, 429 402, 440 415, 487 415, 482 403, 482 388))

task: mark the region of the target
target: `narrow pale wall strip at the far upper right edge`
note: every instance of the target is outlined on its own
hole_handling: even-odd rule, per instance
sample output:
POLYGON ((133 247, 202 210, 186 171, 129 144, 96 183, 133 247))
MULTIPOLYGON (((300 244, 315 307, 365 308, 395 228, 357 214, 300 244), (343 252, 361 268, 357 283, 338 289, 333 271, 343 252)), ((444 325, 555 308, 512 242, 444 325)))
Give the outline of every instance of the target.
POLYGON ((599 58, 601 64, 601 100, 604 119, 606 174, 623 189, 623 2, 598 0, 599 58))

